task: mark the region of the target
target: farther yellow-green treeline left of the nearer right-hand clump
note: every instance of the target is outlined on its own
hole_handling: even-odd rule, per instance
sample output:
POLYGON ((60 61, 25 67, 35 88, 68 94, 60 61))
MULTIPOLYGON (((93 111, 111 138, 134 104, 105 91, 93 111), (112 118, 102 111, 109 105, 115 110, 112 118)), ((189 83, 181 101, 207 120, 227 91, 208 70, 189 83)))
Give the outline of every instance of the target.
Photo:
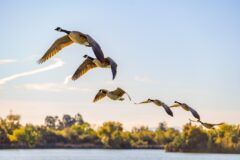
POLYGON ((1 148, 163 148, 179 131, 165 123, 152 131, 135 127, 124 131, 119 122, 105 122, 97 129, 75 116, 47 116, 44 125, 22 125, 20 116, 10 114, 0 119, 1 148))

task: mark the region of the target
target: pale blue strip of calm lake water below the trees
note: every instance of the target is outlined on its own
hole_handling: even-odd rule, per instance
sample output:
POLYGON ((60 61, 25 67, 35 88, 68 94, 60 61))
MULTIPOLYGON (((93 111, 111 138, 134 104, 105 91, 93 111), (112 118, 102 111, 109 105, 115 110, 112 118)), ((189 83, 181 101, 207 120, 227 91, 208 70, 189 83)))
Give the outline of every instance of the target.
POLYGON ((163 150, 0 150, 0 160, 240 160, 240 154, 167 153, 163 150))

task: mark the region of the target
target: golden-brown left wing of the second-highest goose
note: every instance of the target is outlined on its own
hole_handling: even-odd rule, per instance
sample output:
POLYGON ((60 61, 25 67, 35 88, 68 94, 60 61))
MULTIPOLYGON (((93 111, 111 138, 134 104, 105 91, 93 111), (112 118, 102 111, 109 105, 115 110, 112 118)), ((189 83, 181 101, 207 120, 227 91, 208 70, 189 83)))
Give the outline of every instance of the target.
POLYGON ((75 73, 72 76, 72 80, 77 80, 79 77, 87 73, 89 70, 96 67, 97 67, 96 64, 87 58, 75 71, 75 73))

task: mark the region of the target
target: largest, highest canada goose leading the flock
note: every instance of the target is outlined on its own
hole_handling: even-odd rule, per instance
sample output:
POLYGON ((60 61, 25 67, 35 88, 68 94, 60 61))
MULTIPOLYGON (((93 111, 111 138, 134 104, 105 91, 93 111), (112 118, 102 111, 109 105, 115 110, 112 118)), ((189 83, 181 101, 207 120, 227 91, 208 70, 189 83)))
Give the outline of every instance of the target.
POLYGON ((59 32, 64 32, 67 35, 57 39, 52 46, 47 50, 47 52, 42 56, 38 63, 43 63, 49 58, 57 54, 61 49, 69 46, 72 43, 78 43, 85 45, 87 47, 92 47, 92 50, 99 61, 104 61, 104 55, 99 44, 89 35, 78 32, 78 31, 67 31, 60 27, 55 29, 59 32))

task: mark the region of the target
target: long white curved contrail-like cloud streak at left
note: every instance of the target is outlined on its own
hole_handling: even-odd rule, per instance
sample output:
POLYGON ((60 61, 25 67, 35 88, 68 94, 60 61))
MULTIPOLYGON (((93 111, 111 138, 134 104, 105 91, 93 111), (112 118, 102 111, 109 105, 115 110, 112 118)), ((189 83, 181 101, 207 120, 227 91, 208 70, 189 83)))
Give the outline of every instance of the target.
POLYGON ((34 74, 41 73, 41 72, 46 72, 46 71, 61 67, 61 66, 63 66, 63 64, 64 64, 64 62, 61 59, 55 59, 55 63, 51 64, 47 67, 35 69, 32 71, 28 71, 28 72, 17 73, 17 74, 2 78, 2 79, 0 79, 0 85, 3 85, 5 83, 7 83, 8 81, 12 81, 12 80, 15 80, 20 77, 30 76, 30 75, 34 75, 34 74))

